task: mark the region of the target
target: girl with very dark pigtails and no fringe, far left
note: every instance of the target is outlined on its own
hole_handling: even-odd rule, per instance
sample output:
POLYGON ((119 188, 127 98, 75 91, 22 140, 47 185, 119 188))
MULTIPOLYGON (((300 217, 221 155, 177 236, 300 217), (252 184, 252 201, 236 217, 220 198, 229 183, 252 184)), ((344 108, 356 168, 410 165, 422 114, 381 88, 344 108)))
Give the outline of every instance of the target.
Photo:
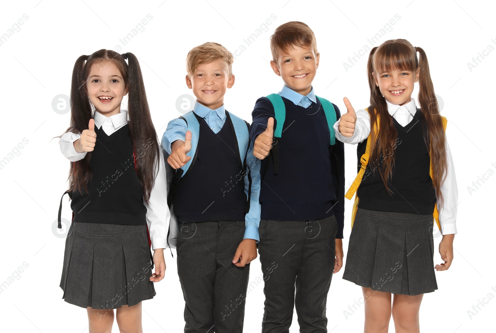
POLYGON ((73 220, 62 298, 87 308, 90 333, 112 331, 113 309, 122 332, 142 332, 141 301, 155 296, 153 282, 165 273, 170 212, 137 58, 109 50, 80 56, 70 98, 61 150, 71 161, 67 193, 73 220), (125 111, 121 102, 127 94, 125 111))

